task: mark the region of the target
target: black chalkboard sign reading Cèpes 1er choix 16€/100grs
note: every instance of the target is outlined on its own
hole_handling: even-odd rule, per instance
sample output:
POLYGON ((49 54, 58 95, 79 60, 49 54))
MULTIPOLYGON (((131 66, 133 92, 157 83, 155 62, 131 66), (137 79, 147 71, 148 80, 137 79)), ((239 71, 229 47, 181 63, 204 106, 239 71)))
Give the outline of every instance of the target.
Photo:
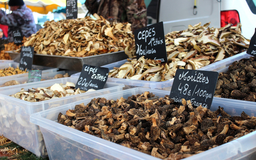
POLYGON ((167 62, 163 22, 152 24, 134 31, 136 56, 167 62))

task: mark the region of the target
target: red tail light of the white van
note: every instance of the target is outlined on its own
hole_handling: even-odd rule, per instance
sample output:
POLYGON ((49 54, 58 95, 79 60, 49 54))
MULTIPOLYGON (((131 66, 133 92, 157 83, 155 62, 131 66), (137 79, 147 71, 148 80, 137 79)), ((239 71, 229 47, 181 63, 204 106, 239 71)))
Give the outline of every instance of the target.
POLYGON ((236 26, 240 22, 239 14, 236 10, 221 11, 220 12, 220 27, 232 23, 233 26, 236 26))

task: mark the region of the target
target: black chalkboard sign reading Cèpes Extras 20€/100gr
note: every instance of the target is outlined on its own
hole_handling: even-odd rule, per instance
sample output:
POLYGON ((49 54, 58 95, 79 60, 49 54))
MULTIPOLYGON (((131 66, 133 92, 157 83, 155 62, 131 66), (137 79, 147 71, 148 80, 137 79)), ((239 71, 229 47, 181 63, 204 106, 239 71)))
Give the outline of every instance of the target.
POLYGON ((108 68, 83 65, 83 69, 76 83, 76 89, 87 91, 89 89, 103 89, 108 79, 108 68))

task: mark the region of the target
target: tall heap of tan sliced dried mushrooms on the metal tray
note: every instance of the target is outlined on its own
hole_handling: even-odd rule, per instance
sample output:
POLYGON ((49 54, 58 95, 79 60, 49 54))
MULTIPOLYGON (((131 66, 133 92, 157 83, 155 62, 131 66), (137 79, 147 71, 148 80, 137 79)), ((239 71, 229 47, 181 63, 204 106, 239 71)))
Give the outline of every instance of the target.
POLYGON ((113 23, 94 14, 81 19, 47 21, 44 28, 27 38, 37 54, 85 57, 123 51, 133 43, 131 24, 113 23))

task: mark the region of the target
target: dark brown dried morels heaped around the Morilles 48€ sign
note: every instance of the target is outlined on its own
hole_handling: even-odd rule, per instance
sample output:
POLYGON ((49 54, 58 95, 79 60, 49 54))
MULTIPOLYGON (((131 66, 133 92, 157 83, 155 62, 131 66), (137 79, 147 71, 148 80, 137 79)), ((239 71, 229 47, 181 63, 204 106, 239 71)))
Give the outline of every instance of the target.
MULTIPOLYGON (((59 113, 58 123, 166 160, 179 160, 217 147, 255 130, 255 117, 231 117, 190 100, 174 105, 168 95, 150 92, 116 101, 92 99, 59 113), (221 116, 218 116, 221 114, 221 116)), ((53 151, 54 152, 54 151, 53 151)))

